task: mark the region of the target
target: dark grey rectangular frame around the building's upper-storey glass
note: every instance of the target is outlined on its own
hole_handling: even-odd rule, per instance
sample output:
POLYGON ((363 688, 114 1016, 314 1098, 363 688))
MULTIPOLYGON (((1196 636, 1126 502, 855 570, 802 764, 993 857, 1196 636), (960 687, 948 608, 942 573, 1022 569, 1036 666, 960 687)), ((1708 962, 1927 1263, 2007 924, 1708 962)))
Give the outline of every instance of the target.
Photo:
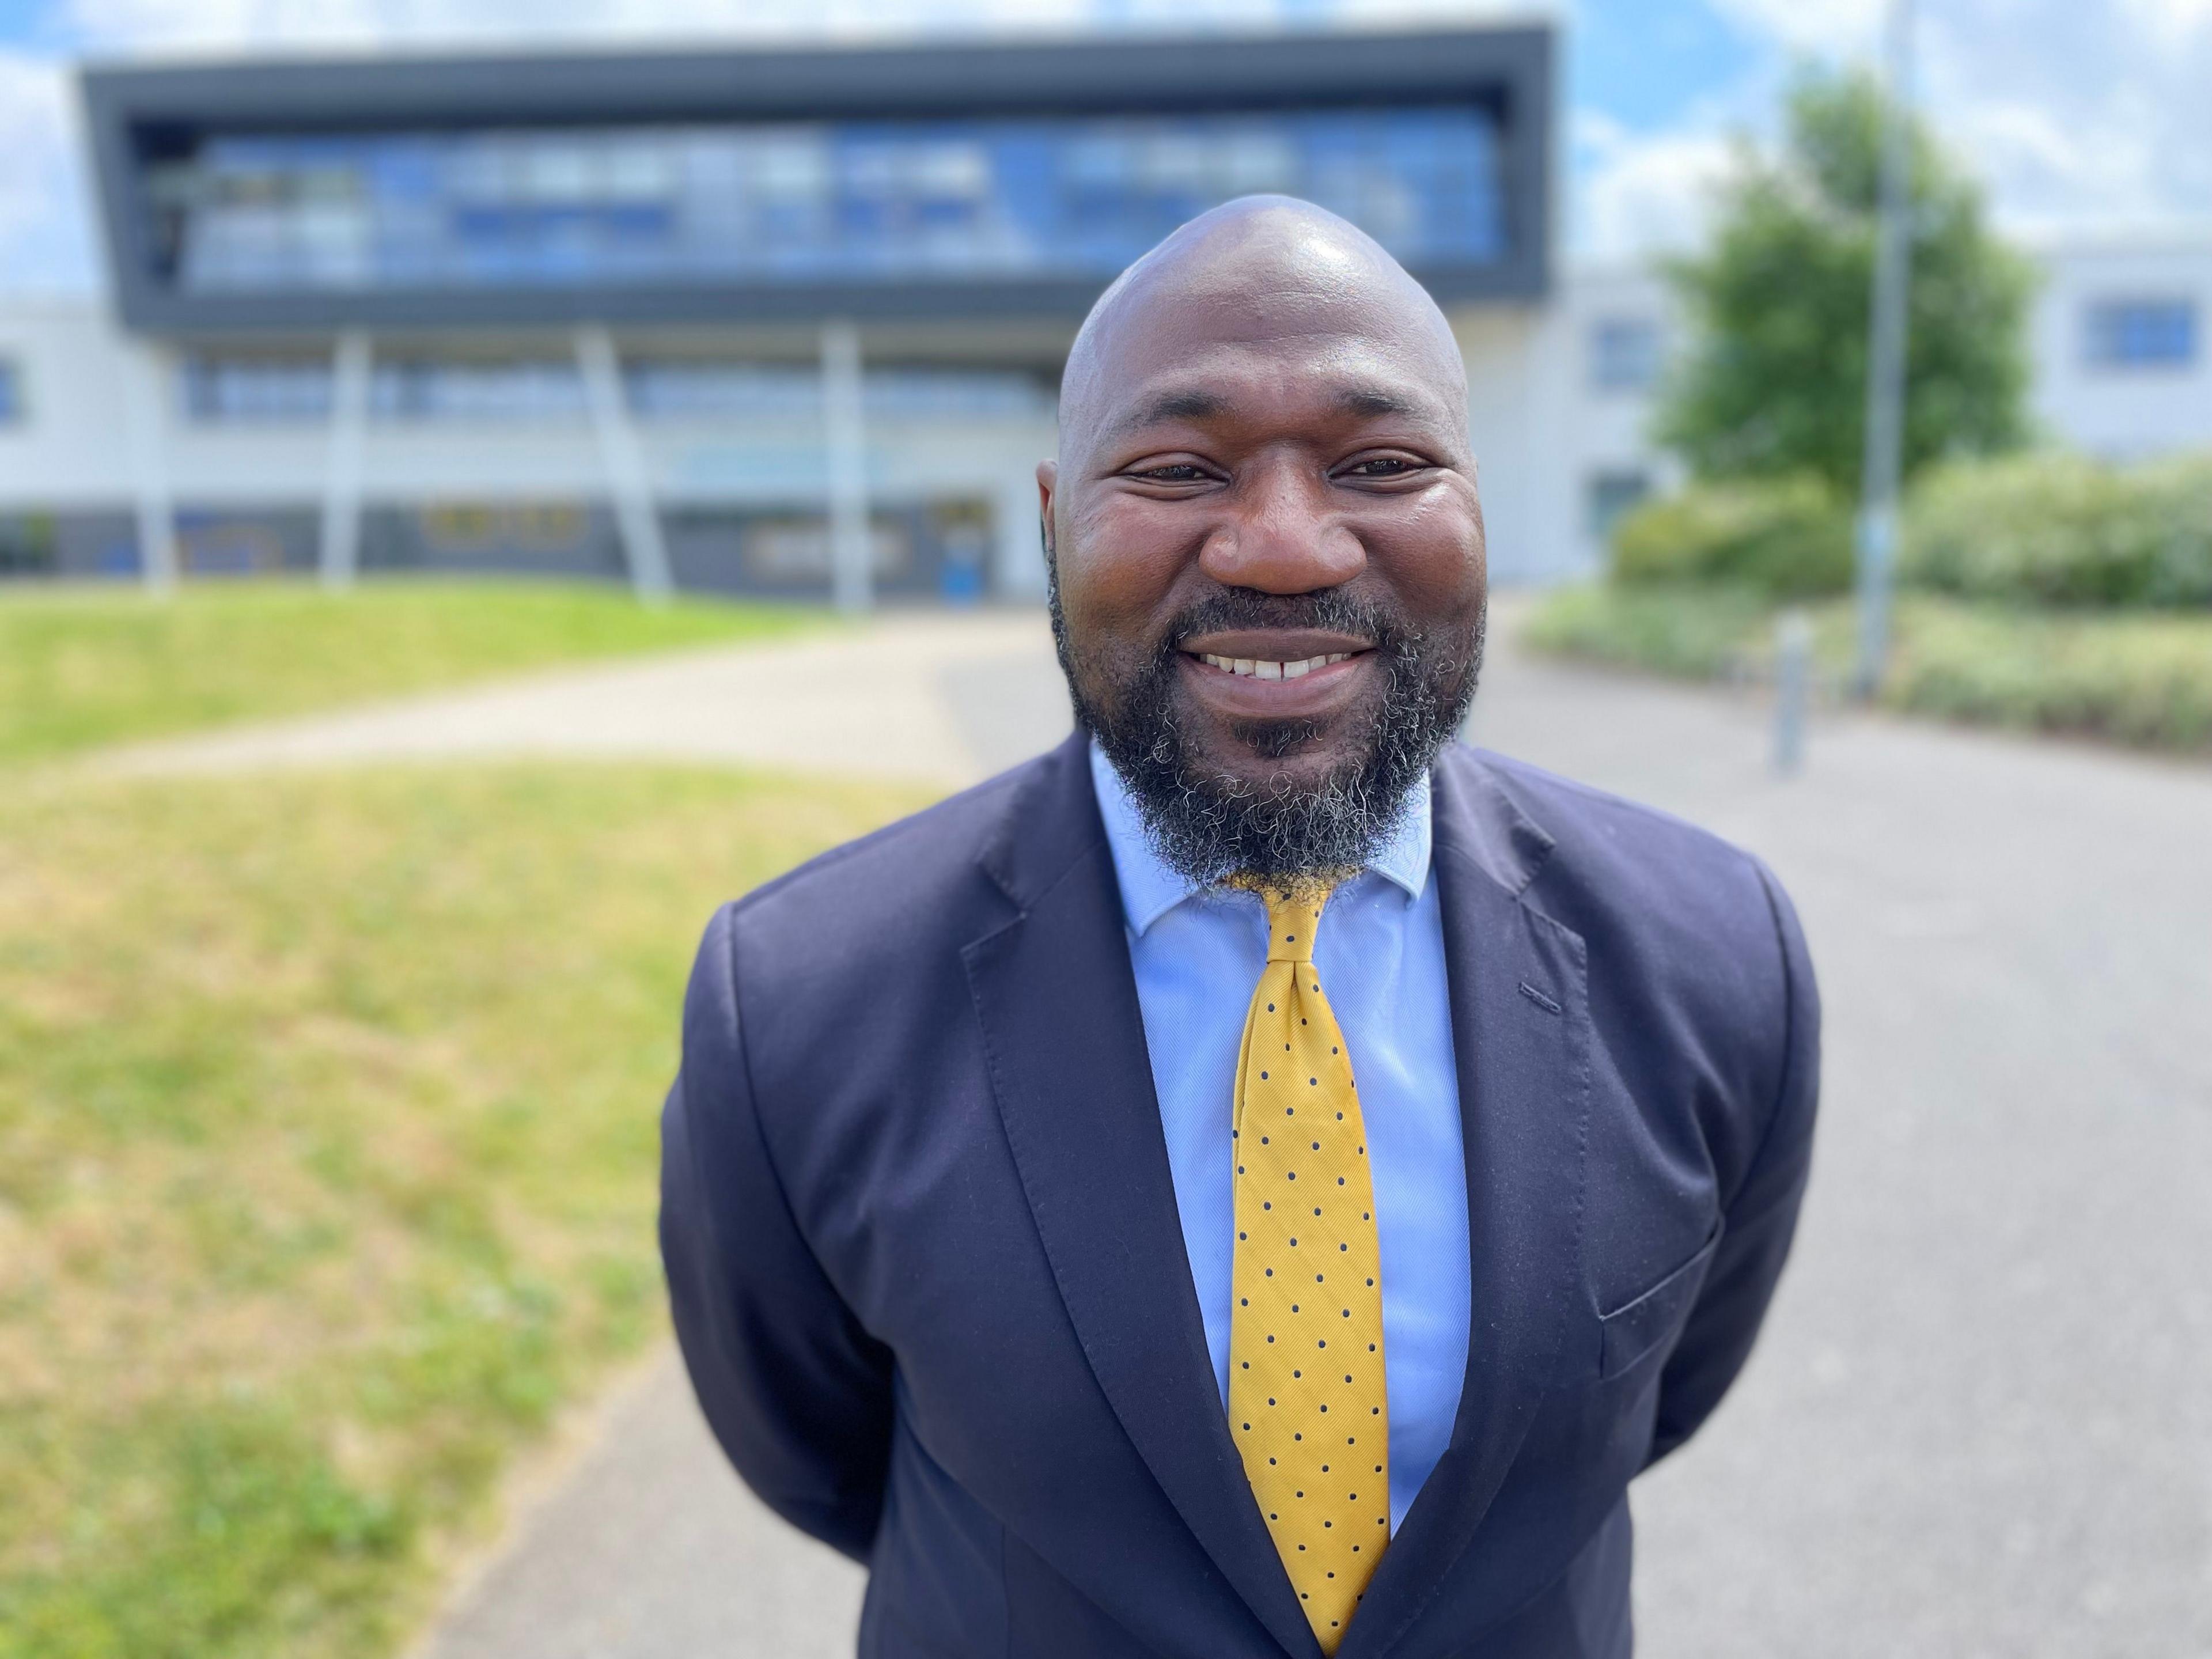
POLYGON ((1500 124, 1504 257, 1420 270, 1440 301, 1551 283, 1553 33, 1305 33, 436 60, 91 66, 84 102, 117 310, 155 334, 856 319, 1066 319, 1095 281, 730 283, 184 294, 155 274, 146 166, 195 135, 622 122, 1093 115, 1473 102, 1500 124))

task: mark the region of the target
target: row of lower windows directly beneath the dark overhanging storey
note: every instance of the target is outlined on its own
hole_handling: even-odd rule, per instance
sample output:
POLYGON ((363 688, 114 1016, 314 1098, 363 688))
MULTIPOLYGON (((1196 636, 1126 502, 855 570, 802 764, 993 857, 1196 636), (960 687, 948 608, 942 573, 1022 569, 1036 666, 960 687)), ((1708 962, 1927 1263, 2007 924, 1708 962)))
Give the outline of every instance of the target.
MULTIPOLYGON (((624 394, 639 418, 818 420, 821 376, 805 367, 633 358, 624 394)), ((863 409, 876 418, 1051 418, 1053 396, 1026 374, 969 369, 872 369, 863 409)), ((179 376, 190 420, 327 420, 332 365, 323 356, 195 354, 179 376)), ((584 378, 571 358, 378 361, 369 372, 369 416, 378 420, 582 420, 584 378)))

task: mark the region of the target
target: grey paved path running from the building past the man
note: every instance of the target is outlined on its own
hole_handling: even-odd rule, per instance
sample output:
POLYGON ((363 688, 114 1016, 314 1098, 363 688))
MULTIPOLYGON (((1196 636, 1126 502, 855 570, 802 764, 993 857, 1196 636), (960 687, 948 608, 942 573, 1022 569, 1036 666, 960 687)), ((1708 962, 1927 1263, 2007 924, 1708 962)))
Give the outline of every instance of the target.
MULTIPOLYGON (((1635 1486, 1644 1657, 2212 1659, 2212 768, 1829 717, 1781 781, 1756 701, 1528 661, 1509 624, 1475 739, 1761 852, 1827 998, 1774 1318, 1635 1486)), ((1040 617, 907 617, 135 763, 582 750, 956 783, 1062 730, 1040 617)), ((827 1659, 858 1595, 739 1489, 664 1358, 422 1659, 827 1659)))

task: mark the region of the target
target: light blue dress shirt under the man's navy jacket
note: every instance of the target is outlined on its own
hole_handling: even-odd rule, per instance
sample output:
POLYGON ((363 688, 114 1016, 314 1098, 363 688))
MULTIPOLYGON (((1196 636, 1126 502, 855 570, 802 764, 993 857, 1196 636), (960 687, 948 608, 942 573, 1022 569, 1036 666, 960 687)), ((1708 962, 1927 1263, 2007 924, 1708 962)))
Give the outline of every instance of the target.
MULTIPOLYGON (((1137 803, 1091 748, 1144 1042, 1206 1318, 1221 1405, 1230 1398, 1230 1267, 1237 1194, 1230 1102, 1245 1009, 1267 960, 1254 894, 1192 887, 1152 849, 1137 803)), ((1389 1515, 1405 1522, 1451 1440, 1467 1376, 1469 1243, 1460 1075, 1444 982, 1444 914, 1429 880, 1429 781, 1396 834, 1329 898, 1314 936, 1321 984, 1360 1082, 1383 1252, 1383 1369, 1389 1391, 1389 1515)))

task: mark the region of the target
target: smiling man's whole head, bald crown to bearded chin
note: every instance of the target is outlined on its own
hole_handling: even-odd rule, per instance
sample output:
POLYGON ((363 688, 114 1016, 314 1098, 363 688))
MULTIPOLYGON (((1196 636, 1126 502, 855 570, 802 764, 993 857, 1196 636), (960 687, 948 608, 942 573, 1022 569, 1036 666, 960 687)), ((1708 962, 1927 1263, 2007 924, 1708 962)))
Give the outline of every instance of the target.
POLYGON ((1482 659, 1467 372, 1436 301, 1287 197, 1091 310, 1037 467, 1075 719, 1183 874, 1367 860, 1482 659))

